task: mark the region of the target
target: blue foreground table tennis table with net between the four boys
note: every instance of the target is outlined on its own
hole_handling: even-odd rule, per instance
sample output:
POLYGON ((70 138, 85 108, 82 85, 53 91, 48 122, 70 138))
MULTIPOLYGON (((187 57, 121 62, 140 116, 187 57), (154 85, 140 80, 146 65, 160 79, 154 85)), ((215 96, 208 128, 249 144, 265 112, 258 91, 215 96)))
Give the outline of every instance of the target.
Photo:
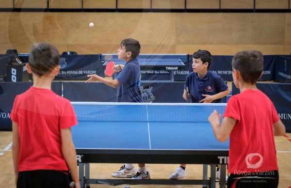
POLYGON ((221 164, 220 187, 226 186, 229 140, 217 141, 208 122, 210 113, 214 109, 224 113, 226 104, 71 103, 79 122, 72 127, 72 137, 81 187, 90 184, 193 184, 215 188, 216 164, 221 164), (90 179, 89 163, 203 164, 203 178, 90 179), (207 165, 210 165, 210 179, 207 165))

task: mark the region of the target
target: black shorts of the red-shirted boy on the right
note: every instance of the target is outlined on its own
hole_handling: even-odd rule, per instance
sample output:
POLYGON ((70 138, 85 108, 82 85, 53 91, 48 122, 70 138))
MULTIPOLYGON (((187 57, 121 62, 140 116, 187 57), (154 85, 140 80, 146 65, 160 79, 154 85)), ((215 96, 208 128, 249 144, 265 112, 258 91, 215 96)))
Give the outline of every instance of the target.
POLYGON ((231 173, 227 179, 227 188, 277 188, 278 184, 278 171, 240 175, 231 173))

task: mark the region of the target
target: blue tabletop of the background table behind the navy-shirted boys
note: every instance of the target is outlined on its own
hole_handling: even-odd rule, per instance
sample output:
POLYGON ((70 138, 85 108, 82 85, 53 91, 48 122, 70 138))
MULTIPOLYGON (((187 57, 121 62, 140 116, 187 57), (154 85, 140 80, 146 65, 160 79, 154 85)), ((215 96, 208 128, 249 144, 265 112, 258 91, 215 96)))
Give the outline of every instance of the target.
MULTIPOLYGON (((115 64, 125 64, 124 60, 120 59, 109 59, 107 62, 103 64, 103 66, 107 65, 108 62, 114 62, 115 64)), ((138 59, 138 62, 140 65, 180 65, 184 66, 185 64, 178 58, 173 58, 173 59, 158 59, 158 58, 153 58, 153 59, 138 59)))

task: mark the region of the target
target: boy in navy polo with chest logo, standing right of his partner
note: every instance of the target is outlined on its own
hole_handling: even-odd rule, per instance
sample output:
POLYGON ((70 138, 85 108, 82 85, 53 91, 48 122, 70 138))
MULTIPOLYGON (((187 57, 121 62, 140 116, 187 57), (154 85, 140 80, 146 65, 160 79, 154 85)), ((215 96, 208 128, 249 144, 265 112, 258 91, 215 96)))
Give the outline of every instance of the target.
MULTIPOLYGON (((193 56, 193 72, 186 77, 183 98, 186 100, 186 87, 189 88, 190 102, 192 103, 221 103, 221 98, 229 94, 227 84, 219 75, 208 71, 212 56, 207 50, 198 50, 193 56)), ((170 179, 186 176, 186 164, 180 164, 177 170, 170 175, 170 179)), ((218 168, 217 178, 220 178, 218 168)))

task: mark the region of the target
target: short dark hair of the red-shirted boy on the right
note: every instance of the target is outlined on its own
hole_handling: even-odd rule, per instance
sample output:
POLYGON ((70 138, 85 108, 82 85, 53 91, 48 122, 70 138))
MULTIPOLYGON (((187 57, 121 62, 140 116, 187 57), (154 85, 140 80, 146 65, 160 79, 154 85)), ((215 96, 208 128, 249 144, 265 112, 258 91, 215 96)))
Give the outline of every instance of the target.
POLYGON ((263 70, 263 54, 255 50, 238 52, 232 59, 232 68, 240 72, 242 79, 248 83, 256 83, 263 70))

